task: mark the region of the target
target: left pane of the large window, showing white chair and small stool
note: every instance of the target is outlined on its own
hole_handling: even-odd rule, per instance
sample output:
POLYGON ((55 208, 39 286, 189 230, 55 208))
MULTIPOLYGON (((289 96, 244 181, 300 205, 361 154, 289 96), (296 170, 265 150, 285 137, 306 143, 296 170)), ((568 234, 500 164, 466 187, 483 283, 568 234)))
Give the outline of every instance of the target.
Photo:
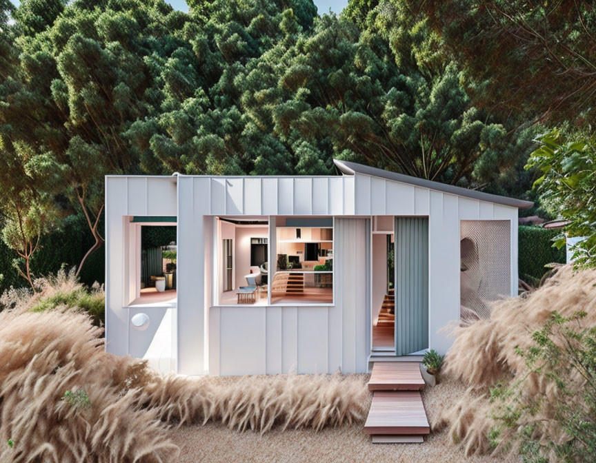
POLYGON ((268 217, 218 217, 218 305, 267 305, 268 217))

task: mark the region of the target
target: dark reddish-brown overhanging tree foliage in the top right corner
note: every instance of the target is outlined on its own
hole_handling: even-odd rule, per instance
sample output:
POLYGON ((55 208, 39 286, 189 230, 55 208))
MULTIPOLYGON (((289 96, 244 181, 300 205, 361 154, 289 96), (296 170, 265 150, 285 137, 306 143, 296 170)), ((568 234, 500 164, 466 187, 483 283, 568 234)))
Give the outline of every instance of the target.
POLYGON ((595 122, 596 8, 586 0, 409 0, 470 77, 475 104, 550 123, 595 122))

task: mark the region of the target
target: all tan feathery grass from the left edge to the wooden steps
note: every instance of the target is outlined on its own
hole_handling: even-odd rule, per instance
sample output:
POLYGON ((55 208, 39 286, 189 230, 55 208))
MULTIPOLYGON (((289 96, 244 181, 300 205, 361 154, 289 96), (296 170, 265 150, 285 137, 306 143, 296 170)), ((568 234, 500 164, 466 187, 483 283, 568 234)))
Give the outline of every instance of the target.
MULTIPOLYGON (((45 294, 68 285, 54 280, 45 294)), ((0 312, 2 463, 173 462, 170 424, 212 421, 264 433, 366 415, 365 375, 164 378, 145 362, 106 353, 103 330, 86 313, 28 311, 36 301, 13 291, 3 300, 12 309, 0 312)))

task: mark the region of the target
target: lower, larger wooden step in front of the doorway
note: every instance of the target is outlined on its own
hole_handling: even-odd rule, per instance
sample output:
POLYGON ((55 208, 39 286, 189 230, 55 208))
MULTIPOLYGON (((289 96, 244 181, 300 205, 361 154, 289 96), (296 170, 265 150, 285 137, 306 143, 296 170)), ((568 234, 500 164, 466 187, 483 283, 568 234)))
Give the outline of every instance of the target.
POLYGON ((364 432, 394 437, 429 434, 430 425, 419 391, 375 391, 364 432))

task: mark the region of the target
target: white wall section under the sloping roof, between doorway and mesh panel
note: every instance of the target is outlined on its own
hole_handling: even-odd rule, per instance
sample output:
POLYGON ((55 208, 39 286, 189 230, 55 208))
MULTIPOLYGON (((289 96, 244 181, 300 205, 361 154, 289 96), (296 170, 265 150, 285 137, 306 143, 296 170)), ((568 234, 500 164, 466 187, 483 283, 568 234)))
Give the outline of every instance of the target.
POLYGON ((517 208, 355 174, 359 216, 428 216, 428 340, 445 353, 453 342, 438 331, 459 320, 459 220, 504 219, 511 226, 511 296, 517 294, 517 208))

